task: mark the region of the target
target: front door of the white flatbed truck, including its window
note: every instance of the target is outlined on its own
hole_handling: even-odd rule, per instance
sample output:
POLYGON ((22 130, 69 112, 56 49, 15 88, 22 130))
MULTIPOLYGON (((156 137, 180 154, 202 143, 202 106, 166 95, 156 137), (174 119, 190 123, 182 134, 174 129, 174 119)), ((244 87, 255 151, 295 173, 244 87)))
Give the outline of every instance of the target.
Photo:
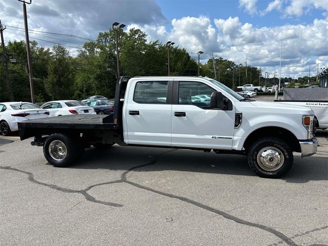
POLYGON ((172 147, 232 149, 235 108, 210 108, 210 103, 192 97, 215 91, 210 84, 198 81, 174 81, 172 99, 172 147))

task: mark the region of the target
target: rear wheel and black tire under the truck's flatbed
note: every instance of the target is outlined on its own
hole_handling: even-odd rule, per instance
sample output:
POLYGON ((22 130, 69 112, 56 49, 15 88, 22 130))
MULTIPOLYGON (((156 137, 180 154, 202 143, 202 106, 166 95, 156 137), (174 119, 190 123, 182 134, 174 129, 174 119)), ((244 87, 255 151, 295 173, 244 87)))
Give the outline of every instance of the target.
POLYGON ((73 137, 61 133, 48 136, 43 147, 48 162, 58 168, 71 165, 83 151, 84 148, 73 137))

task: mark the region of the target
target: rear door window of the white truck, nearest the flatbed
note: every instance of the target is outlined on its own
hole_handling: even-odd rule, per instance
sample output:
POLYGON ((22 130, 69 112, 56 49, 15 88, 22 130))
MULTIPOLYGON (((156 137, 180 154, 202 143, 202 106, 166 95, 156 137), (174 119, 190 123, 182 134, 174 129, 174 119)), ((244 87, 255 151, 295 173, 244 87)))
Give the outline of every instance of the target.
POLYGON ((133 100, 138 104, 166 104, 168 81, 140 81, 134 89, 133 100))

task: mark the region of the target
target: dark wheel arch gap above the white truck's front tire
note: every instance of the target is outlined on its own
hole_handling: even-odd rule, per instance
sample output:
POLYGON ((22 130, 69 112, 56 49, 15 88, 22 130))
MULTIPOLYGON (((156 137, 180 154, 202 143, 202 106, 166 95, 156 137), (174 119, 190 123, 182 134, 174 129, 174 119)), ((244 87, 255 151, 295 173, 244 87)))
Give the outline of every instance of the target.
POLYGON ((281 127, 262 127, 253 131, 244 141, 243 148, 248 151, 252 143, 264 137, 277 137, 285 141, 293 151, 301 152, 297 137, 289 130, 281 127))

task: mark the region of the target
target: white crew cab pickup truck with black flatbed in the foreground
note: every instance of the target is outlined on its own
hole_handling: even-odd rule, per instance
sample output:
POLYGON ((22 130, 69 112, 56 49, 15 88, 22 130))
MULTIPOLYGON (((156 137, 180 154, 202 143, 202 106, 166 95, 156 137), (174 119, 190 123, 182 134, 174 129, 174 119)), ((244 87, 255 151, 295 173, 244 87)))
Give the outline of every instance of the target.
POLYGON ((242 154, 256 174, 276 178, 291 169, 293 152, 316 153, 313 119, 309 108, 245 99, 207 77, 119 77, 113 114, 28 120, 18 128, 56 167, 92 145, 118 144, 242 154), (196 95, 211 99, 191 100, 196 95))

